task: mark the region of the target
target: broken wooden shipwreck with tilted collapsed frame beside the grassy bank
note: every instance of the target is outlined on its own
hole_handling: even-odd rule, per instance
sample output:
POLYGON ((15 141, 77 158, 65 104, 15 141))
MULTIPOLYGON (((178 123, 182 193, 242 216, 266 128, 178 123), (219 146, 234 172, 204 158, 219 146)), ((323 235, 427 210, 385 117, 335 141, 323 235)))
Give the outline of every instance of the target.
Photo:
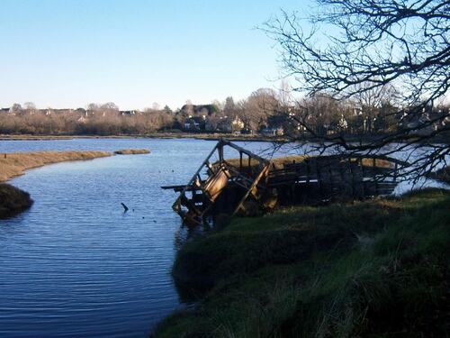
POLYGON ((404 165, 386 156, 356 154, 267 160, 220 140, 187 184, 162 188, 179 193, 172 207, 193 225, 211 215, 255 215, 275 206, 390 195, 404 165), (226 159, 226 150, 237 157, 226 159))

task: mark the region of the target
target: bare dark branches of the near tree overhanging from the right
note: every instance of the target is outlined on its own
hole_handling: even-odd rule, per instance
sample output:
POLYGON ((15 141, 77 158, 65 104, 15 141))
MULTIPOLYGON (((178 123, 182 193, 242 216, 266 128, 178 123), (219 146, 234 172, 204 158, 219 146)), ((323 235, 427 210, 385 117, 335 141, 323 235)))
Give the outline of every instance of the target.
POLYGON ((320 12, 308 19, 284 12, 263 28, 278 42, 286 76, 297 80, 294 89, 309 96, 320 92, 357 101, 365 94, 398 87, 401 92, 392 114, 401 120, 395 132, 356 143, 342 134, 318 135, 307 118, 295 122, 320 136, 322 148, 385 155, 401 151, 410 161, 404 175, 419 178, 446 165, 450 149, 442 142, 449 139, 450 116, 448 110, 433 113, 432 108, 449 87, 448 0, 317 3, 320 12), (388 146, 392 143, 398 144, 393 150, 388 146), (421 151, 424 148, 428 151, 421 151))

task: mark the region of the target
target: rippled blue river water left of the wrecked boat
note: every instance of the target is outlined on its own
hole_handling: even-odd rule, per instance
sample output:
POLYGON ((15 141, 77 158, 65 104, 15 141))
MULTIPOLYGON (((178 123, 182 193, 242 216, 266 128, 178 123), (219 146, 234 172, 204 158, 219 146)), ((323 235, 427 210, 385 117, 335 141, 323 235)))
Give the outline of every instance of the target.
POLYGON ((35 202, 22 215, 0 220, 0 336, 145 337, 183 306, 170 269, 185 234, 171 209, 174 192, 160 186, 185 183, 214 144, 1 141, 0 152, 152 152, 58 163, 11 181, 35 202), (130 207, 127 214, 121 202, 130 207))

